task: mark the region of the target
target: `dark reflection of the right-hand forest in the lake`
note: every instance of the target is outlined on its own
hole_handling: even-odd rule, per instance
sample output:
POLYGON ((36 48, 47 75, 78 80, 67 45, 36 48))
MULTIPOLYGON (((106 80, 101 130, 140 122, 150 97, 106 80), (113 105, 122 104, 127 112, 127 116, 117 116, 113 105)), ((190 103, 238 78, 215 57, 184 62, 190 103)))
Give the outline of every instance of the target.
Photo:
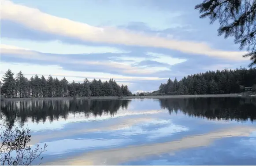
POLYGON ((207 119, 256 121, 256 98, 172 98, 160 100, 160 105, 170 114, 180 110, 185 115, 207 119))

